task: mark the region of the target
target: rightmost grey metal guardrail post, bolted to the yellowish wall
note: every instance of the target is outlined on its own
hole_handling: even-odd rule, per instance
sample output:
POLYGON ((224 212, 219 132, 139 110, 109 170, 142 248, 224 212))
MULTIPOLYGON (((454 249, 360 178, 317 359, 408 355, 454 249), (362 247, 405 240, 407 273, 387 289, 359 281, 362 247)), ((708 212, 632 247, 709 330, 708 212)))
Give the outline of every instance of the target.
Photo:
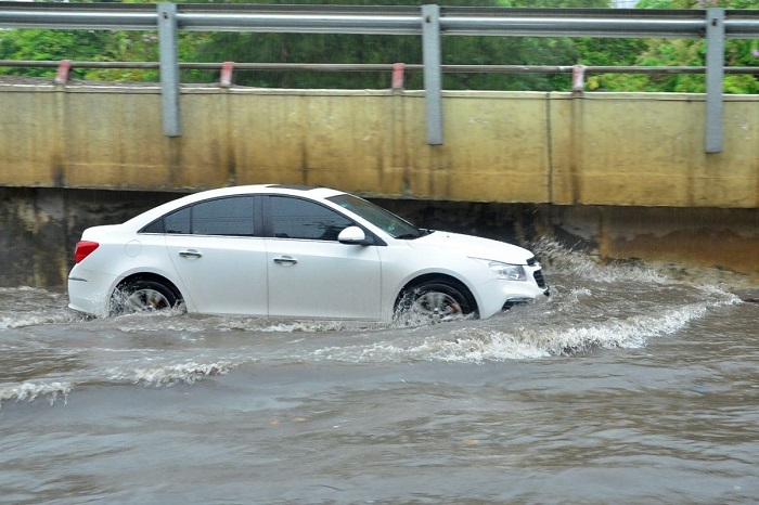
POLYGON ((724 78, 724 9, 706 11, 706 152, 721 153, 724 78))

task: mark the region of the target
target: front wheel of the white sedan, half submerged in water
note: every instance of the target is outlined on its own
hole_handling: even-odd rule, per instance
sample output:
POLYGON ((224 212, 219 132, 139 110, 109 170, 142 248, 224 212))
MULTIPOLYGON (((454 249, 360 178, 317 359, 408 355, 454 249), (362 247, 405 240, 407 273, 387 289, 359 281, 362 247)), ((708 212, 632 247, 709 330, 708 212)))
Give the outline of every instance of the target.
POLYGON ((458 283, 435 280, 407 289, 396 314, 406 324, 425 324, 476 315, 475 302, 458 283))

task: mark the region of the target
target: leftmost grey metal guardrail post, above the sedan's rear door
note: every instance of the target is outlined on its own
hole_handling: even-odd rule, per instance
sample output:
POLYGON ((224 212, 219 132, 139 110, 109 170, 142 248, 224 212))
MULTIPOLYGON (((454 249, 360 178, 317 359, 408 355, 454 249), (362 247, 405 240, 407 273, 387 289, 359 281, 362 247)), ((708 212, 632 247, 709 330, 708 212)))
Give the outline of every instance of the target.
POLYGON ((158 3, 158 48, 160 51, 160 103, 164 135, 182 137, 179 121, 179 57, 177 55, 177 5, 158 3))

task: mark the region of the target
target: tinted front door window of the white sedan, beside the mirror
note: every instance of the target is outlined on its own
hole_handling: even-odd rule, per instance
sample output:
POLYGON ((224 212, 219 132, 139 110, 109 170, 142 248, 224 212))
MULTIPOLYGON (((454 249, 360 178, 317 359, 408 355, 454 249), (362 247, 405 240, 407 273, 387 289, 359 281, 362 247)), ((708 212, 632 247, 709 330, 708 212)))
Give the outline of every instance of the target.
POLYGON ((353 224, 334 210, 301 198, 270 196, 271 225, 278 238, 337 241, 337 235, 353 224))

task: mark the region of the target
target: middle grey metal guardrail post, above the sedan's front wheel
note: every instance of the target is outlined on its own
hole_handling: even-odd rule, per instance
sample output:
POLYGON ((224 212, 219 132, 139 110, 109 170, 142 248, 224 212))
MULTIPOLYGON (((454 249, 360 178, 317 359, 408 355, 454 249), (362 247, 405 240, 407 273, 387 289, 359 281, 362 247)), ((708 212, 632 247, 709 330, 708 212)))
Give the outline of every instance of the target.
POLYGON ((442 145, 442 70, 440 68, 440 7, 422 5, 422 59, 427 109, 427 144, 442 145))

